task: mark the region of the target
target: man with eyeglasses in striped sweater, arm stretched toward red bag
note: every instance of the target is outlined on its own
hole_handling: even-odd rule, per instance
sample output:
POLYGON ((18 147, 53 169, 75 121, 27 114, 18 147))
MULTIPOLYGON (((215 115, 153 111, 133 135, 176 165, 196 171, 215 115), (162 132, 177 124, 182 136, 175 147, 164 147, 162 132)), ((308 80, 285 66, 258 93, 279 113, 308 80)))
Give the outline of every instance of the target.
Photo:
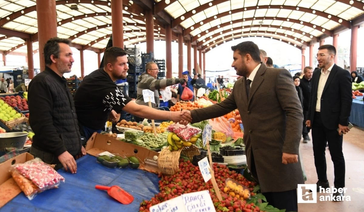
MULTIPOLYGON (((137 100, 135 100, 135 102, 137 104, 140 105, 147 105, 148 103, 144 102, 143 99, 143 90, 145 89, 149 89, 151 91, 154 92, 154 103, 152 104, 153 108, 156 108, 159 106, 159 93, 158 93, 158 89, 162 89, 162 88, 166 88, 170 85, 175 85, 178 83, 185 83, 186 80, 181 78, 181 79, 161 79, 161 80, 157 80, 158 77, 158 65, 157 63, 154 63, 153 61, 148 62, 145 65, 145 72, 142 73, 139 78, 138 78, 138 89, 137 89, 137 100)), ((134 116, 135 121, 142 121, 143 119, 137 116, 134 116)))

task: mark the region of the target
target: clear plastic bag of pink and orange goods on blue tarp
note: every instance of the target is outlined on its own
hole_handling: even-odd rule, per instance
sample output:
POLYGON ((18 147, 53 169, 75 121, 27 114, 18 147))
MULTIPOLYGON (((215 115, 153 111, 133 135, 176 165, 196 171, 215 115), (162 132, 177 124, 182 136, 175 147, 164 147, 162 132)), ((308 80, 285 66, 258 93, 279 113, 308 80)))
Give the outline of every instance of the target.
POLYGON ((37 193, 58 188, 59 183, 64 182, 64 178, 51 165, 39 158, 12 165, 9 171, 29 200, 37 193))

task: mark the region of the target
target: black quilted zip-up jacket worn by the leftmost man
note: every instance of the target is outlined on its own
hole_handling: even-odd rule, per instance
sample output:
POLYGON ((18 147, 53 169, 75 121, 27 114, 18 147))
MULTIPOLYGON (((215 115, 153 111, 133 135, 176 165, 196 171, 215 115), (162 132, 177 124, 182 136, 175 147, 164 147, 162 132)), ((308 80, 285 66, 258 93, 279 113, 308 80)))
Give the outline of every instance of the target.
POLYGON ((72 156, 81 152, 76 109, 66 78, 46 67, 29 84, 28 104, 34 148, 56 157, 65 151, 72 156))

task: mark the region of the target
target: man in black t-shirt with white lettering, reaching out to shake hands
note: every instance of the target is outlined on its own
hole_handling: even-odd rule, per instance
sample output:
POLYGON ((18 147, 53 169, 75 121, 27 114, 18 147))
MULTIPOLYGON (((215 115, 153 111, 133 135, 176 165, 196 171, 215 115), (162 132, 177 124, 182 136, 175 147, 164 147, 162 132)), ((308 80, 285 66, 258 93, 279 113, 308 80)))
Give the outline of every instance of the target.
POLYGON ((115 81, 125 79, 128 69, 127 53, 122 48, 110 47, 104 53, 104 67, 83 78, 74 101, 80 133, 86 137, 86 140, 92 133, 100 133, 106 121, 116 119, 116 114, 121 111, 146 119, 175 122, 185 120, 185 112, 160 111, 139 105, 120 91, 115 81))

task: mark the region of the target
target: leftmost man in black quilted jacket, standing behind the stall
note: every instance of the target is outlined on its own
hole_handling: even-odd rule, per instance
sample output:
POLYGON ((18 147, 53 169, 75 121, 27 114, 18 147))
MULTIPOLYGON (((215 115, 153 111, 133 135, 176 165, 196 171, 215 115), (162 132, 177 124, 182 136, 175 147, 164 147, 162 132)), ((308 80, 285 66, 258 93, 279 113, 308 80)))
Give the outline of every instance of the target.
POLYGON ((30 153, 45 163, 76 173, 75 156, 86 155, 81 144, 76 109, 64 73, 70 73, 74 59, 71 40, 51 38, 44 45, 46 69, 29 84, 28 102, 32 118, 33 143, 30 153))

